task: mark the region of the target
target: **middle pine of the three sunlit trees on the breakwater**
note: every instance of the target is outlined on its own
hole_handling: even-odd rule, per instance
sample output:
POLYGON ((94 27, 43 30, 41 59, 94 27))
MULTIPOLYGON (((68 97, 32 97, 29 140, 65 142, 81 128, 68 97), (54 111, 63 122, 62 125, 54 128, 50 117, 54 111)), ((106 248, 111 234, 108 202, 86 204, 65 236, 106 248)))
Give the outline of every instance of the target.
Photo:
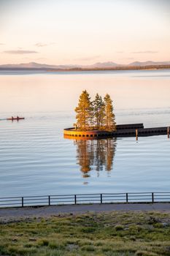
POLYGON ((96 129, 101 129, 104 121, 104 102, 98 94, 93 101, 93 118, 96 129))

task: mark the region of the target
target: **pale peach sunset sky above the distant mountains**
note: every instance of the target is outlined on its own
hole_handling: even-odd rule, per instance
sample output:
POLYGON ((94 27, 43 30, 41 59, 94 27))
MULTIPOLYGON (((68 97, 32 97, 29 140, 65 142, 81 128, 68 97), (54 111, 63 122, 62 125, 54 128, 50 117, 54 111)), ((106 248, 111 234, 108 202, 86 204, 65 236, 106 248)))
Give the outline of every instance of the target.
POLYGON ((169 0, 0 0, 0 64, 170 61, 169 0))

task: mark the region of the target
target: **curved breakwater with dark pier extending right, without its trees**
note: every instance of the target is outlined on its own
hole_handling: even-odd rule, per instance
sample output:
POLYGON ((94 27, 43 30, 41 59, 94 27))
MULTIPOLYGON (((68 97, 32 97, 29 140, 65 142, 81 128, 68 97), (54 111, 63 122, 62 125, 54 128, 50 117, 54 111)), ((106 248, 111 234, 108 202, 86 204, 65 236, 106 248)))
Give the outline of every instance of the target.
POLYGON ((168 135, 169 127, 154 127, 144 128, 144 124, 120 124, 117 125, 116 132, 108 132, 101 130, 78 131, 72 128, 63 130, 64 138, 80 138, 80 139, 94 139, 94 138, 122 138, 122 137, 140 137, 153 135, 168 135))

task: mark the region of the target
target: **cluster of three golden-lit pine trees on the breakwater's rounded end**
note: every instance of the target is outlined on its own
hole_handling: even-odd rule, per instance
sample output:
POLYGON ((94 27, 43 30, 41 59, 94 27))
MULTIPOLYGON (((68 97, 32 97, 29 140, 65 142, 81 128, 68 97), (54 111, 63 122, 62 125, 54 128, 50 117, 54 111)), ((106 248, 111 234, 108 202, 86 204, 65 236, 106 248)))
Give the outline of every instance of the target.
POLYGON ((88 91, 82 91, 75 112, 77 113, 75 129, 79 131, 94 129, 116 131, 115 114, 109 94, 106 94, 104 99, 96 94, 95 99, 91 101, 88 91))

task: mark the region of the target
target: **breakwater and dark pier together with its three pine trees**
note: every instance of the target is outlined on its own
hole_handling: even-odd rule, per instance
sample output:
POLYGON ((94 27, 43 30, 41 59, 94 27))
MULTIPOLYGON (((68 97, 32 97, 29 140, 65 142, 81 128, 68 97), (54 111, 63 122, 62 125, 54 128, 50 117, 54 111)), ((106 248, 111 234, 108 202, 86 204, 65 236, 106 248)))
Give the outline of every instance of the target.
POLYGON ((169 127, 144 128, 144 124, 119 124, 115 122, 112 99, 106 94, 104 99, 96 94, 90 99, 88 91, 82 91, 77 108, 77 122, 74 127, 63 129, 64 138, 80 140, 98 138, 136 137, 152 135, 168 135, 169 127))

